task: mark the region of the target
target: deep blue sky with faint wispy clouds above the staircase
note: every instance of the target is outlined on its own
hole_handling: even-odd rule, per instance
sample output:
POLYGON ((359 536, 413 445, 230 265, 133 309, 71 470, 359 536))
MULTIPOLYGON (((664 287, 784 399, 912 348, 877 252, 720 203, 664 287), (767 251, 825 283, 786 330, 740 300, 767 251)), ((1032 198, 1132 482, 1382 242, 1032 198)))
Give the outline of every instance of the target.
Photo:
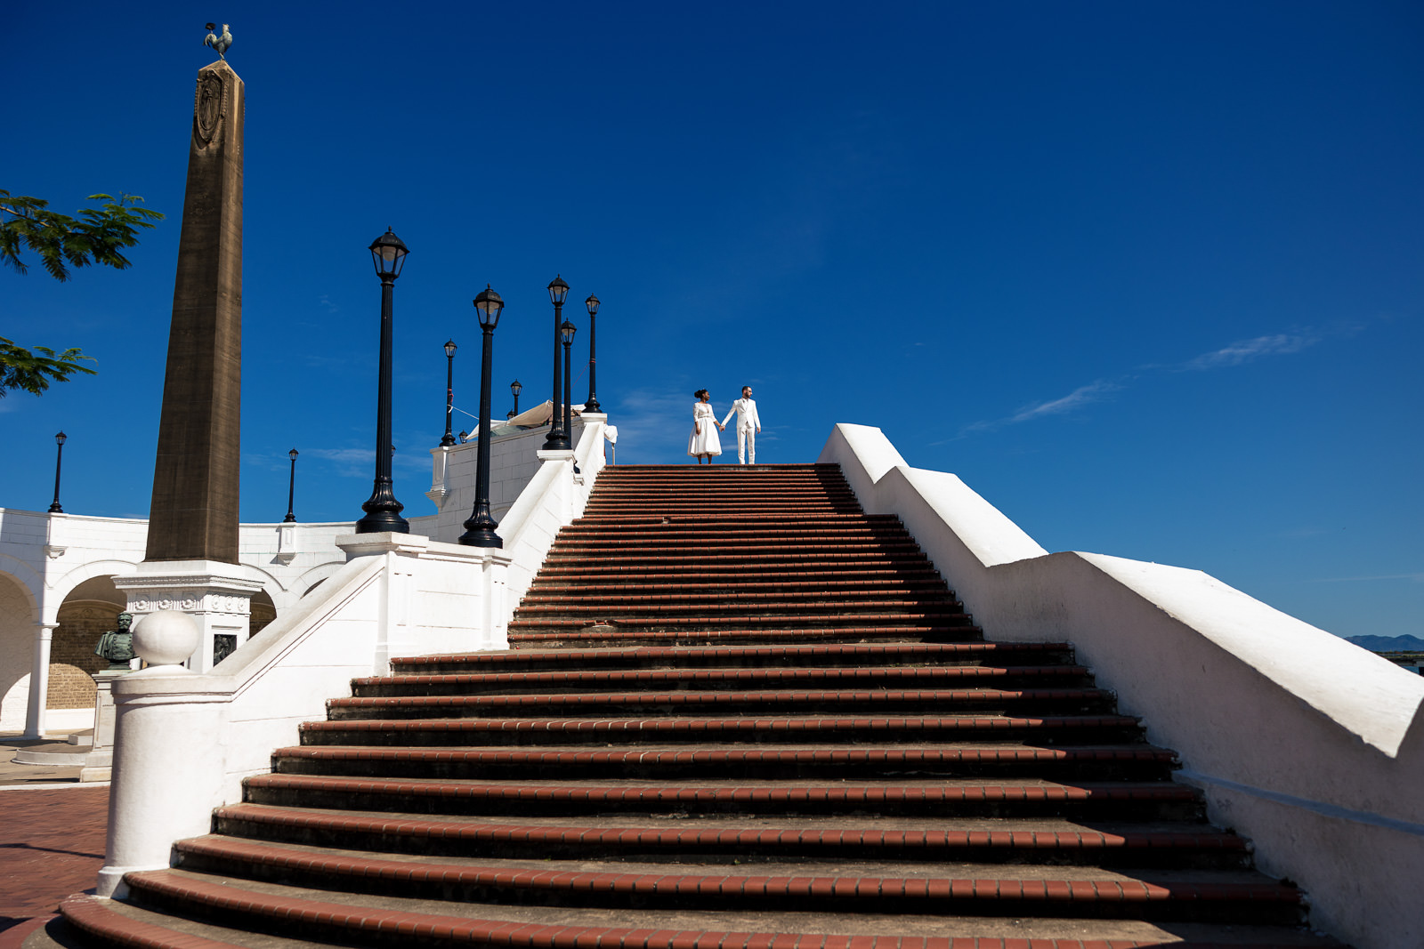
POLYGON ((1420 4, 21 4, 0 188, 168 221, 127 272, 0 272, 0 334, 100 370, 0 400, 6 507, 48 505, 63 428, 66 511, 147 514, 209 18, 248 95, 244 519, 292 447, 298 516, 360 516, 393 226, 407 514, 441 344, 473 413, 491 283, 497 414, 545 398, 561 273, 621 462, 686 461, 692 391, 750 383, 763 461, 880 425, 1049 549, 1424 635, 1420 4))

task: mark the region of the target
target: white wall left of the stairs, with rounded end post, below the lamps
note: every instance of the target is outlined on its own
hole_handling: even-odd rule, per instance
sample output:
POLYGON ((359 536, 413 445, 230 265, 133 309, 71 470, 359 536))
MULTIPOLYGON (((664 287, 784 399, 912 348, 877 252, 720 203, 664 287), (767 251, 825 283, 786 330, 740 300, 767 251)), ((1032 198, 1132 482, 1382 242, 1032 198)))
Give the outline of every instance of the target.
POLYGON ((212 810, 239 801, 242 778, 271 770, 273 748, 299 744, 300 724, 325 719, 352 679, 386 674, 394 656, 506 649, 518 598, 602 470, 602 423, 585 415, 574 451, 541 452, 500 525, 504 549, 340 536, 346 565, 211 673, 164 666, 118 679, 97 892, 120 892, 128 871, 168 866, 172 842, 206 834, 212 810))

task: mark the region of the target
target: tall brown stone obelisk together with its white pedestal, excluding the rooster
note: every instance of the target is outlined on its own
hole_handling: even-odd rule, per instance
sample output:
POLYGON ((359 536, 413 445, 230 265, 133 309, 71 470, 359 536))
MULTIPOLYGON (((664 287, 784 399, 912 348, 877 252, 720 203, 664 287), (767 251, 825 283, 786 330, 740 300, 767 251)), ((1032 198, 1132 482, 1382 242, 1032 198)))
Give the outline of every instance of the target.
POLYGON ((158 423, 148 548, 115 578, 128 609, 191 613, 205 672, 248 637, 259 585, 238 566, 242 400, 242 80, 225 60, 198 71, 178 239, 168 369, 158 423))

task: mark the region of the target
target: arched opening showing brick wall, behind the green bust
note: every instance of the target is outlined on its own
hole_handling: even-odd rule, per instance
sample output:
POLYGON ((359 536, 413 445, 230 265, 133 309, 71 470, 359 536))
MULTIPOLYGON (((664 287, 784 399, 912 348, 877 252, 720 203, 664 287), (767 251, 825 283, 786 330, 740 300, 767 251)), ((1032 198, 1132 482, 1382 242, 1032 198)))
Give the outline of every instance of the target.
MULTIPOLYGON (((108 660, 94 654, 100 633, 118 625, 124 612, 125 598, 114 589, 114 578, 94 576, 73 590, 60 603, 58 626, 50 642, 50 687, 44 696, 44 707, 94 709, 93 673, 108 666, 108 660)), ((61 720, 50 716, 51 728, 83 726, 75 720, 61 720)))

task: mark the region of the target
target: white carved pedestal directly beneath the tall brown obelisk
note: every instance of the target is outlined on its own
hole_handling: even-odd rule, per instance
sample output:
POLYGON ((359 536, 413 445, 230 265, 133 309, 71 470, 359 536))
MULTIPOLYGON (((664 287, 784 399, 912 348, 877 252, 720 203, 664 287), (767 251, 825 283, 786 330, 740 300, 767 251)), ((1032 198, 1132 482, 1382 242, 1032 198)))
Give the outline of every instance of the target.
POLYGON ((188 660, 192 672, 209 672, 214 656, 226 656, 248 640, 252 595, 262 589, 242 576, 242 568, 215 561, 158 561, 138 565, 138 573, 114 578, 128 596, 135 629, 144 616, 175 609, 198 622, 198 650, 188 660))

